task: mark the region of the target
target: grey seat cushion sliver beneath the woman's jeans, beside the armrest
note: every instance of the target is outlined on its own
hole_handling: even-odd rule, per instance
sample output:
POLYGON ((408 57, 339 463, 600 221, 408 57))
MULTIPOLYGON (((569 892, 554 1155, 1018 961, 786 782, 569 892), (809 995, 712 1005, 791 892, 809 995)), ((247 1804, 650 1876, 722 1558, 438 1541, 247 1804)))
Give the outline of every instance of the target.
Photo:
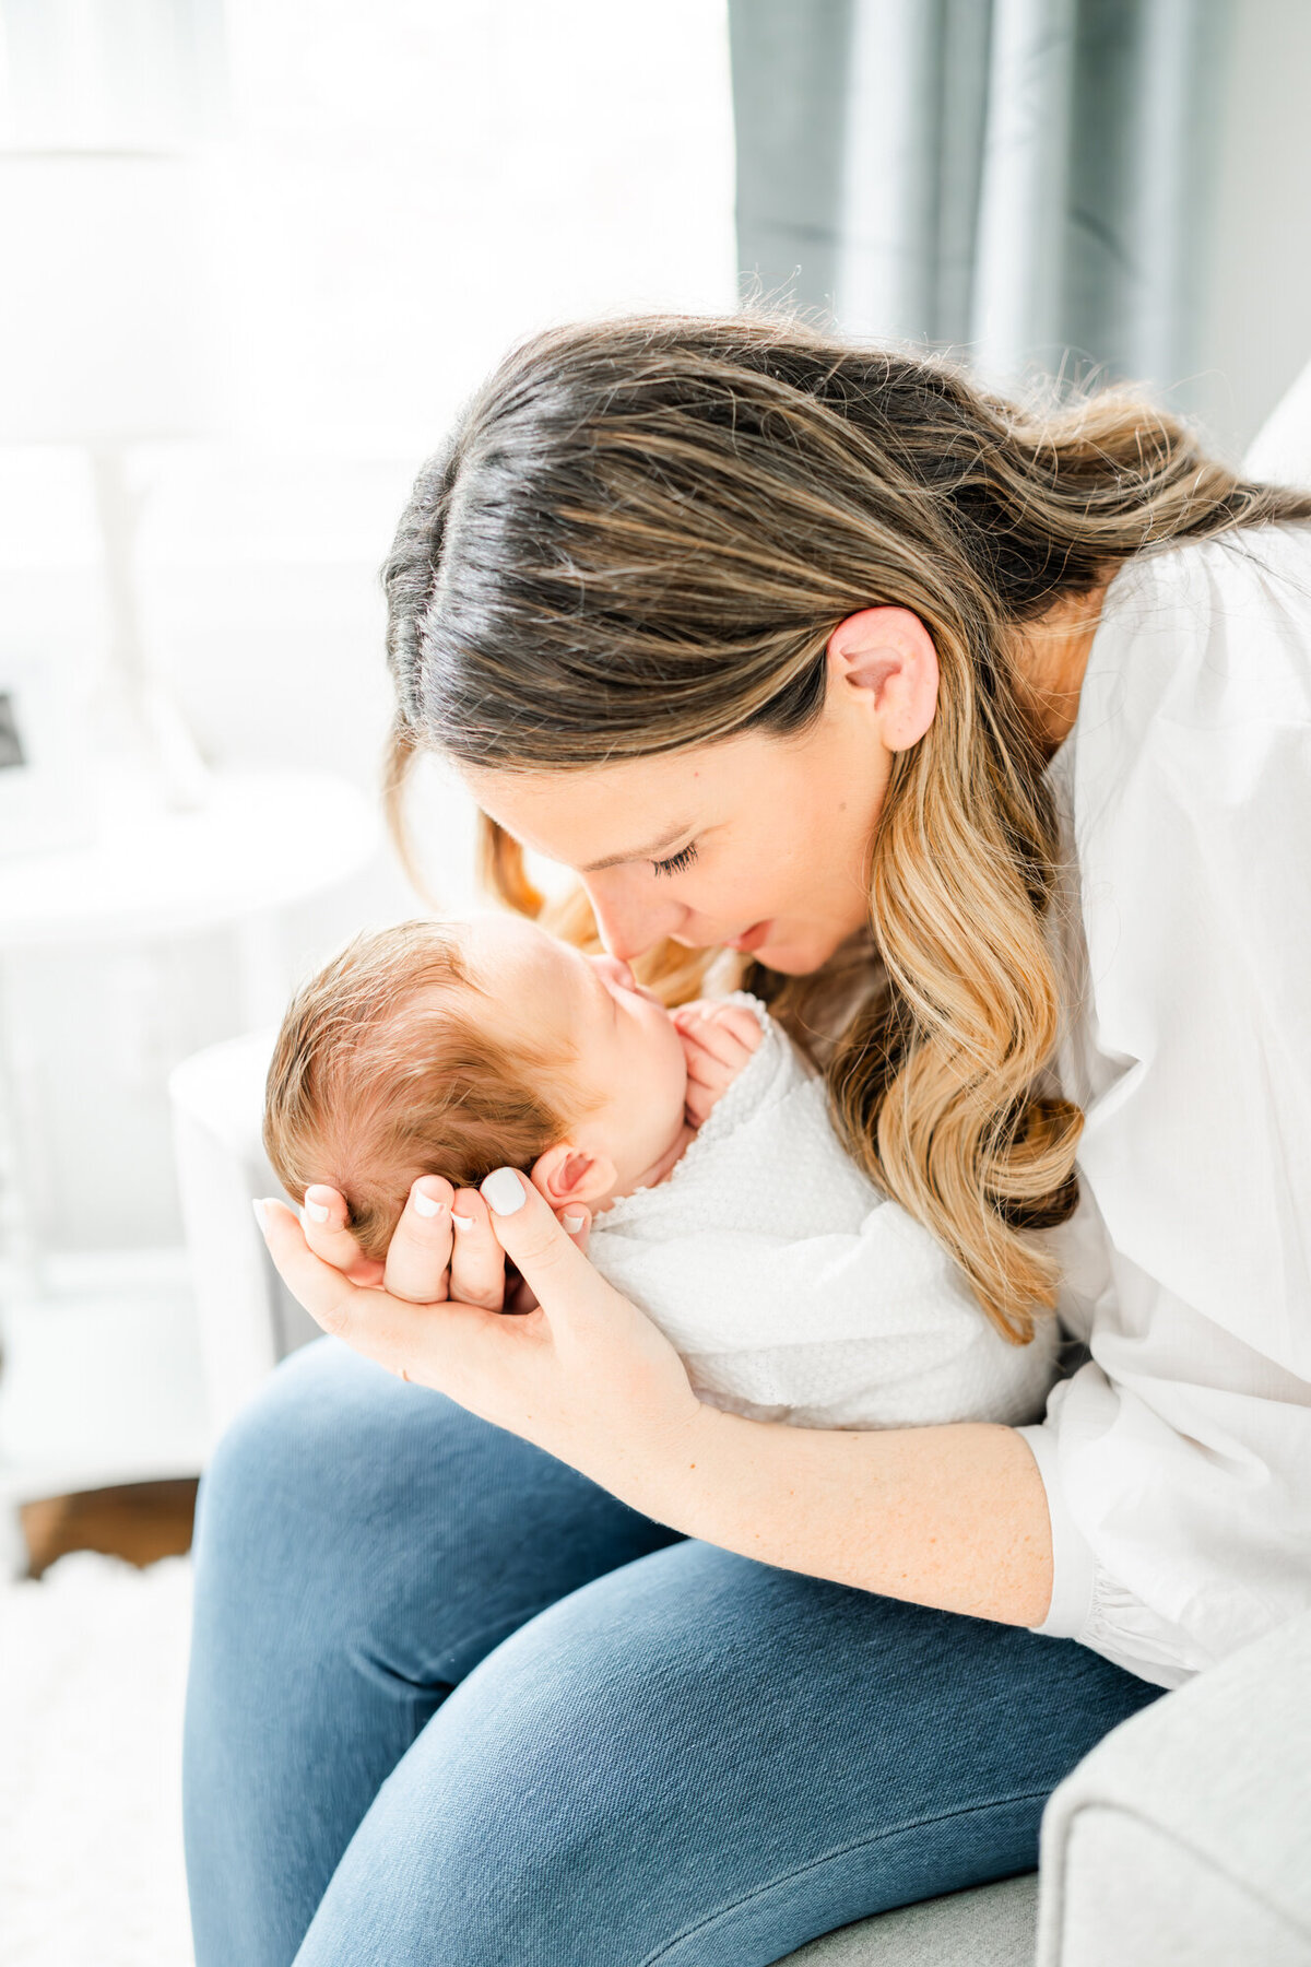
POLYGON ((1032 1967, 1038 1873, 900 1906, 788 1953, 788 1967, 1032 1967))

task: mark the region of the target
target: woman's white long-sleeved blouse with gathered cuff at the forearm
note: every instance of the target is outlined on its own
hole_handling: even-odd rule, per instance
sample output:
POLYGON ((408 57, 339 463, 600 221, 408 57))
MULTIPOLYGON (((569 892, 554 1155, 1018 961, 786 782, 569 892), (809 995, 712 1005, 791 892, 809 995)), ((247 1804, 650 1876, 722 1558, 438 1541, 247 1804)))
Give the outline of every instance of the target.
POLYGON ((1020 1430, 1038 1631, 1169 1688, 1311 1607, 1311 527, 1120 568, 1050 773, 1085 1363, 1020 1430))

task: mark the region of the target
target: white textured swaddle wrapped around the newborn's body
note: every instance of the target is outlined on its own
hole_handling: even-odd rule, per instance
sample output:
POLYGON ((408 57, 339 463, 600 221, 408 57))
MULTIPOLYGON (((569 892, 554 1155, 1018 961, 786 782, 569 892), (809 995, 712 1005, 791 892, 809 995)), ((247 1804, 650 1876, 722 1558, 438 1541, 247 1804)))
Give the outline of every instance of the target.
POLYGON ((804 1428, 1042 1414, 1055 1324, 1008 1345, 932 1235, 849 1161, 824 1082, 765 1037, 658 1188, 623 1196, 588 1255, 682 1353, 712 1406, 804 1428))

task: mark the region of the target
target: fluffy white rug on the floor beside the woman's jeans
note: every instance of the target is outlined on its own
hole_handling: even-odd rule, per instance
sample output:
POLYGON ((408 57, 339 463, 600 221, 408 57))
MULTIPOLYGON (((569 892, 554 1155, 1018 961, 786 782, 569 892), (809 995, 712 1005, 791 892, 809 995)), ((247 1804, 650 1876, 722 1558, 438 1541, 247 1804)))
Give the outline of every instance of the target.
POLYGON ((77 1552, 0 1587, 0 1967, 193 1967, 191 1568, 77 1552))

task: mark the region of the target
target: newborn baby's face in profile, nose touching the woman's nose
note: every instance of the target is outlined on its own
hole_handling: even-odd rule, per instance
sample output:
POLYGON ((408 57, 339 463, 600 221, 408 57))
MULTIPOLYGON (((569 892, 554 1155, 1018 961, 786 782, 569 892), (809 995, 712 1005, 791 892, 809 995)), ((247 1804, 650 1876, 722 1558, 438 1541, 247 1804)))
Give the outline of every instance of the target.
POLYGON ((627 1194, 684 1121, 688 1066, 668 1011, 627 964, 584 956, 523 917, 478 915, 460 942, 499 1037, 572 1050, 568 1084, 586 1109, 572 1133, 613 1161, 615 1192, 627 1194))

